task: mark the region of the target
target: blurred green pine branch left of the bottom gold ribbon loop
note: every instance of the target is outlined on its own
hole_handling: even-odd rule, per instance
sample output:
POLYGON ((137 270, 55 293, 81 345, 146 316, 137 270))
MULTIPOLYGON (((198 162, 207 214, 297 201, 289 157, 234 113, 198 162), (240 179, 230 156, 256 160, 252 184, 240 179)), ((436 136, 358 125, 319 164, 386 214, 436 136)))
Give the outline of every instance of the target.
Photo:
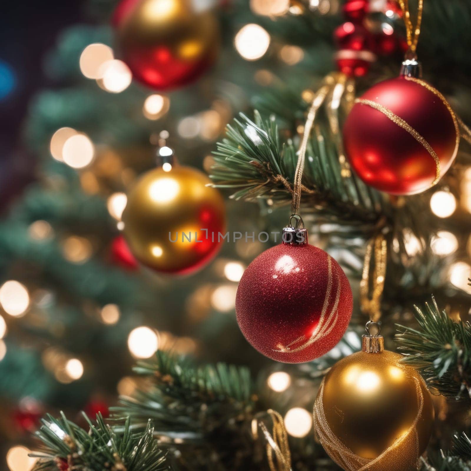
POLYGON ((129 415, 138 428, 150 418, 162 444, 179 449, 185 469, 207 469, 208 456, 214 470, 245 469, 244 463, 252 462, 247 430, 256 397, 247 368, 195 366, 158 351, 135 371, 153 377, 153 384, 132 398, 122 397, 122 406, 114 408, 118 417, 129 415))

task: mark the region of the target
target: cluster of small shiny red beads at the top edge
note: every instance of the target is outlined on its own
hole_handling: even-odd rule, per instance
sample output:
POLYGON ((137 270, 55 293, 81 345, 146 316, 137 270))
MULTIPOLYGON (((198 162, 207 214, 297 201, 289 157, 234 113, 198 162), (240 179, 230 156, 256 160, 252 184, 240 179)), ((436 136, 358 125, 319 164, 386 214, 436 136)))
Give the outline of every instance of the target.
POLYGON ((407 47, 390 24, 401 15, 396 0, 347 0, 342 11, 347 21, 334 32, 339 49, 335 59, 339 70, 350 77, 365 75, 377 56, 407 47))

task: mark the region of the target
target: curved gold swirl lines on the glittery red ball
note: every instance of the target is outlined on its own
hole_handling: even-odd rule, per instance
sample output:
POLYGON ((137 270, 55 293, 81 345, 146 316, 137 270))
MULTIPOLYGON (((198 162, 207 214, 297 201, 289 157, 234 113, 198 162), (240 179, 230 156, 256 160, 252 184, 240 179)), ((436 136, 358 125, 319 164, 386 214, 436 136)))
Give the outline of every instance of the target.
POLYGON ((316 329, 309 336, 307 340, 306 340, 306 335, 301 335, 296 340, 293 340, 291 343, 289 343, 286 346, 279 345, 278 348, 275 349, 275 351, 285 352, 285 353, 286 352, 290 352, 290 353, 299 352, 332 332, 333 327, 337 323, 336 314, 337 314, 337 309, 339 307, 340 292, 341 292, 341 281, 338 276, 337 276, 336 281, 337 281, 337 291, 335 293, 335 300, 334 300, 332 309, 327 315, 327 309, 329 308, 330 295, 331 295, 332 287, 333 287, 332 257, 328 255, 327 256, 327 289, 325 290, 324 305, 322 306, 321 316, 319 318, 319 322, 317 323, 316 329), (325 317, 327 317, 327 319, 325 319, 325 317), (303 343, 301 345, 298 345, 297 347, 293 347, 293 345, 299 342, 303 342, 303 343))

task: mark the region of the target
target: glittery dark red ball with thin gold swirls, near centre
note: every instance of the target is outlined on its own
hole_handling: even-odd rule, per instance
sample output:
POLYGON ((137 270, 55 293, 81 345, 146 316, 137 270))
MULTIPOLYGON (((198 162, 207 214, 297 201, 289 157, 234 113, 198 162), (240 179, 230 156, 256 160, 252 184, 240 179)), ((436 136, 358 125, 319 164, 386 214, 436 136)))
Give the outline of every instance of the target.
POLYGON ((247 267, 235 311, 242 333, 260 353, 302 363, 340 341, 352 302, 347 276, 332 257, 313 245, 282 243, 247 267))

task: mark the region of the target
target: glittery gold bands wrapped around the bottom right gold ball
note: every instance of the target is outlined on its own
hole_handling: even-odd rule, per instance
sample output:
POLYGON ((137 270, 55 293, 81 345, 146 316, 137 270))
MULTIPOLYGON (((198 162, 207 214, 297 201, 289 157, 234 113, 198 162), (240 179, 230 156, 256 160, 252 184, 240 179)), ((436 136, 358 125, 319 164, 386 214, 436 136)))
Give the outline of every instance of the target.
MULTIPOLYGON (((414 437, 414 447, 415 447, 415 456, 419 459, 419 436, 417 432, 417 423, 422 414, 423 409, 423 393, 420 387, 419 380, 414 378, 414 385, 417 391, 417 415, 414 418, 409 429, 403 433, 398 439, 396 439, 390 447, 386 448, 381 455, 377 456, 374 459, 363 458, 361 456, 353 453, 348 447, 346 447, 343 442, 333 433, 329 423, 325 417, 323 396, 324 396, 324 382, 322 381, 321 387, 319 389, 319 394, 314 403, 314 428, 316 435, 319 441, 322 443, 327 454, 332 458, 332 460, 341 466, 345 471, 368 471, 371 470, 377 464, 381 464, 383 460, 388 459, 388 455, 394 451, 399 445, 401 445, 405 440, 409 439, 410 436, 414 437)), ((377 469, 377 468, 374 468, 377 469)))

